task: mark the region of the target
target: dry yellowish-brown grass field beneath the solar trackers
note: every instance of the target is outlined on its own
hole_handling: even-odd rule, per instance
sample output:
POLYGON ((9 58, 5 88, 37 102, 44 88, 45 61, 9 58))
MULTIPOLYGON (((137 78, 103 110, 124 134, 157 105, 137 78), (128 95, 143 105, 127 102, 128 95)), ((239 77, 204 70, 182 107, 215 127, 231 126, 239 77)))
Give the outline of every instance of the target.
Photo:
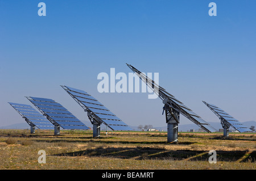
POLYGON ((166 132, 0 130, 0 169, 256 169, 256 134, 179 133, 167 144, 166 132), (46 163, 39 163, 39 150, 46 163), (216 150, 217 163, 209 163, 216 150))

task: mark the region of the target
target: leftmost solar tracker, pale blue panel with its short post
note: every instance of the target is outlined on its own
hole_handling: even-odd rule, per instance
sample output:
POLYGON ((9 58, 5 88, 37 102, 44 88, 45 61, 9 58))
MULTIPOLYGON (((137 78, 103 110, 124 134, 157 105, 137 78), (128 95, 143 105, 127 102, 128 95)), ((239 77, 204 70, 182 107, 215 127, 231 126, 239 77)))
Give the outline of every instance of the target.
POLYGON ((27 104, 11 103, 9 104, 16 110, 20 116, 30 125, 30 132, 35 133, 35 127, 38 129, 53 129, 54 126, 40 112, 27 104))

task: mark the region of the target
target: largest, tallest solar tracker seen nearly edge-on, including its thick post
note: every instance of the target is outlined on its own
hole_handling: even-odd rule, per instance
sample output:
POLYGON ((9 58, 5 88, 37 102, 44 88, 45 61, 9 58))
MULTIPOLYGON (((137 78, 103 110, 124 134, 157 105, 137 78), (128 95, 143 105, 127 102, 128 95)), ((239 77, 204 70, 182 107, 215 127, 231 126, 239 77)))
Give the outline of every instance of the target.
POLYGON ((193 112, 190 108, 185 106, 180 100, 177 100, 175 96, 167 92, 163 87, 160 87, 147 75, 134 68, 130 64, 126 64, 136 75, 150 87, 160 99, 163 100, 163 111, 166 112, 166 123, 168 127, 167 142, 177 142, 177 129, 179 124, 180 113, 198 125, 200 128, 207 132, 217 132, 209 123, 204 121, 199 115, 193 112))

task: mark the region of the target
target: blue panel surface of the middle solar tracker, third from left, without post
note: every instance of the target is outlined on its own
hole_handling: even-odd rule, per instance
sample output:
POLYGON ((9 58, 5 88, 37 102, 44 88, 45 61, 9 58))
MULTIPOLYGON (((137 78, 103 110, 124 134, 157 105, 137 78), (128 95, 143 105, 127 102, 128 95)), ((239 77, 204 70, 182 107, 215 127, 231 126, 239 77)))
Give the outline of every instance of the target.
POLYGON ((103 104, 83 90, 68 86, 61 86, 84 110, 89 111, 94 119, 104 123, 112 130, 131 131, 132 129, 119 119, 113 112, 109 111, 103 104))

